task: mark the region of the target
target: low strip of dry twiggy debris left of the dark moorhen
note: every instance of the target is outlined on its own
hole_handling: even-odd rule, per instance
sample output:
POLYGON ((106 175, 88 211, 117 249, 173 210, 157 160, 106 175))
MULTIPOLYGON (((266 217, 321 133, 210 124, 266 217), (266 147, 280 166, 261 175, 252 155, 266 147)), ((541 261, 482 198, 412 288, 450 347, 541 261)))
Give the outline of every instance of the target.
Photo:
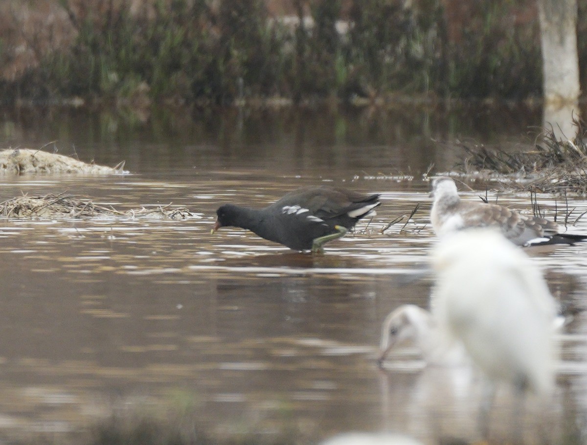
POLYGON ((23 195, 0 203, 0 217, 5 218, 154 218, 185 220, 201 218, 187 208, 158 205, 157 207, 140 207, 130 210, 116 210, 94 204, 91 200, 74 195, 52 193, 47 195, 23 195))

